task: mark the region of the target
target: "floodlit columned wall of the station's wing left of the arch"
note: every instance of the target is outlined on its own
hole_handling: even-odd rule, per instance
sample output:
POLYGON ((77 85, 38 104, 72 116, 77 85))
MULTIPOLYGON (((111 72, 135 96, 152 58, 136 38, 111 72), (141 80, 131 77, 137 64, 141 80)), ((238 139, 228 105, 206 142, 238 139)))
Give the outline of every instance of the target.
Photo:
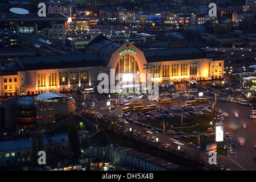
MULTIPOLYGON (((19 81, 19 95, 22 95, 24 92, 25 95, 29 94, 39 94, 43 92, 70 92, 72 89, 79 88, 90 88, 92 82, 97 84, 99 68, 70 68, 70 69, 43 69, 35 71, 22 71, 18 73, 19 81), (85 72, 88 78, 83 82, 81 80, 81 73, 85 72), (60 73, 66 73, 67 75, 63 76, 60 73), (71 76, 72 75, 72 76, 71 76), (74 78, 75 81, 71 81, 71 78, 74 78), (77 75, 77 76, 76 76, 77 75), (23 84, 22 84, 23 77, 23 84), (52 79, 53 78, 53 81, 52 79), (62 82, 64 81, 64 82, 62 82), (23 89, 22 89, 23 88, 23 89)), ((82 75, 83 76, 83 75, 82 75)))

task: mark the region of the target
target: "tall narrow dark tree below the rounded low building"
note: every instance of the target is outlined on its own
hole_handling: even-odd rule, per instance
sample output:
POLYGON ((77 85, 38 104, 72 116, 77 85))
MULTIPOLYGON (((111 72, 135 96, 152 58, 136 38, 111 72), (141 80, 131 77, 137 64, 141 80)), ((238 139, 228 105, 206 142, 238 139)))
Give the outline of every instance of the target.
POLYGON ((80 156, 81 143, 79 139, 79 129, 75 121, 68 123, 68 143, 72 158, 74 160, 78 159, 80 156))

